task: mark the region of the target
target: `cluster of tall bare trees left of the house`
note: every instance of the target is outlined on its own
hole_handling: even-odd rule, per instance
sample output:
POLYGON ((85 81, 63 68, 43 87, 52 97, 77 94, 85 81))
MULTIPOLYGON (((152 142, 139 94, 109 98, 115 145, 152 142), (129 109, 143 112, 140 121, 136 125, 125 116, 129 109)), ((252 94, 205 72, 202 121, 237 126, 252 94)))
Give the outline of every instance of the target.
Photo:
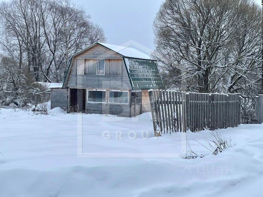
POLYGON ((74 53, 106 40, 83 7, 69 0, 1 2, 0 31, 0 94, 8 92, 9 103, 34 90, 34 81, 62 82, 74 53))

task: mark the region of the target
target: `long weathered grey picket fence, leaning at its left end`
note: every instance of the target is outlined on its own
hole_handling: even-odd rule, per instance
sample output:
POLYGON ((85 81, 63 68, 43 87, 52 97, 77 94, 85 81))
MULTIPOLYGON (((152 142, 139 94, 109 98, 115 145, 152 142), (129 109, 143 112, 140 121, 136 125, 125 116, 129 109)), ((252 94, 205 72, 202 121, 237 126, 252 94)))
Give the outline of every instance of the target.
POLYGON ((149 96, 155 136, 240 125, 239 94, 149 90, 149 96))

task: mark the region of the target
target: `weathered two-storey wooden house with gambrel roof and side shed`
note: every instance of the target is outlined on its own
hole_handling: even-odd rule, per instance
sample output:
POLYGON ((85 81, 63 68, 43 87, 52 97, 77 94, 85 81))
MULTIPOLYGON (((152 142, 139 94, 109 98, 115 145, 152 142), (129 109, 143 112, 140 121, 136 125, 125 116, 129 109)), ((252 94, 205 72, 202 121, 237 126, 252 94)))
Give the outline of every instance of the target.
POLYGON ((95 43, 71 58, 51 108, 133 117, 149 112, 149 89, 163 89, 155 60, 134 48, 95 43))

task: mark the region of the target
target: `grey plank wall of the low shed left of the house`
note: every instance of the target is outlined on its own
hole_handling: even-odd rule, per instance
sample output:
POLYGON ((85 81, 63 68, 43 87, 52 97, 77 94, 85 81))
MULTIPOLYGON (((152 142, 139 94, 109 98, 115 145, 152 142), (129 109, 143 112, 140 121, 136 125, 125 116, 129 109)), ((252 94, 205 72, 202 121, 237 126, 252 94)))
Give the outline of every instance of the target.
POLYGON ((51 92, 51 109, 55 107, 68 109, 68 89, 52 88, 51 92))

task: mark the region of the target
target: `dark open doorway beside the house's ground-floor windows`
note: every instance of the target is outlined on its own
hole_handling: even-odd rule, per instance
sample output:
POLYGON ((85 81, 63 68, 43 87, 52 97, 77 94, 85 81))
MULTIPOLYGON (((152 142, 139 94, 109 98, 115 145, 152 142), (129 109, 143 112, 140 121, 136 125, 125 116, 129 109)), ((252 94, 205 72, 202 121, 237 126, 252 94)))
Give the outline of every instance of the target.
POLYGON ((86 111, 86 89, 70 89, 70 111, 86 111))

